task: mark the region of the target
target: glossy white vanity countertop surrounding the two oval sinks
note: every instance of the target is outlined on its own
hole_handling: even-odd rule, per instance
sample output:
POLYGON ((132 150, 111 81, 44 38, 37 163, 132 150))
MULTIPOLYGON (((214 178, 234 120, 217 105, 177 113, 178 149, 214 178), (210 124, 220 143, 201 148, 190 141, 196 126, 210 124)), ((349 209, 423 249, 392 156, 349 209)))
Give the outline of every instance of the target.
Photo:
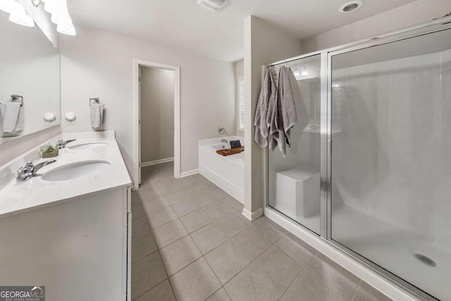
MULTIPOLYGON (((37 175, 80 161, 108 161, 111 165, 97 173, 74 180, 53 182, 35 176, 23 182, 17 181, 18 167, 30 160, 30 157, 35 156, 38 147, 32 149, 27 154, 0 167, 0 217, 46 207, 74 197, 132 185, 113 131, 64 133, 52 138, 49 142, 54 144, 58 139, 74 138, 77 140, 70 142, 67 147, 96 141, 107 143, 94 149, 70 149, 67 147, 60 149, 58 156, 49 158, 56 159, 56 162, 39 169, 37 175)), ((49 159, 39 159, 35 163, 49 159)))

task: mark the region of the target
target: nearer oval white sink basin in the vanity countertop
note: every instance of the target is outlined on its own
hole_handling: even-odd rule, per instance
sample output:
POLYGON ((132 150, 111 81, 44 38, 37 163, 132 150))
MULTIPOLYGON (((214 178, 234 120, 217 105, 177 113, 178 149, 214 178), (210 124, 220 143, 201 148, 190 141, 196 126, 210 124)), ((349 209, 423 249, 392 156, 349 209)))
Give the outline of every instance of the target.
POLYGON ((75 180, 92 176, 110 166, 111 164, 108 161, 101 160, 76 162, 47 171, 41 178, 47 181, 75 180))

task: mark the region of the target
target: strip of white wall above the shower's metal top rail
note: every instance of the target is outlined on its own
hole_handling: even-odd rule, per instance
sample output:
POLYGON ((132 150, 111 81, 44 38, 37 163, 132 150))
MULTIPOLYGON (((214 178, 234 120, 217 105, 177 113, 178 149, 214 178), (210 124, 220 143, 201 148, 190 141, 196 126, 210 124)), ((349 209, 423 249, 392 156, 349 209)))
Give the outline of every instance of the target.
POLYGON ((359 20, 302 41, 302 50, 309 53, 339 46, 359 39, 381 35, 403 27, 428 22, 451 12, 449 0, 417 0, 390 11, 359 20))

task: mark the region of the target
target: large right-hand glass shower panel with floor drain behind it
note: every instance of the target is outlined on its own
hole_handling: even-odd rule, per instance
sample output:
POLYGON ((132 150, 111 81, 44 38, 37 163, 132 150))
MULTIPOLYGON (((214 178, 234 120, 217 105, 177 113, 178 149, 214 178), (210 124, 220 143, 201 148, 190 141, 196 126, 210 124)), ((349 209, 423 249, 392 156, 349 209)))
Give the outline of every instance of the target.
POLYGON ((451 300, 451 30, 330 59, 331 239, 451 300))

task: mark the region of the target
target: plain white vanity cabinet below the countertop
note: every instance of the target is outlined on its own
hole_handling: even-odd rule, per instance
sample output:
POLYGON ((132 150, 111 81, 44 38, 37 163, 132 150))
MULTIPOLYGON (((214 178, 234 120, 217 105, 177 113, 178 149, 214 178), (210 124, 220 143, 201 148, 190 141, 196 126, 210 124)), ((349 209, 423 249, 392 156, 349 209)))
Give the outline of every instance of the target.
POLYGON ((48 301, 130 300, 130 197, 113 188, 2 216, 1 285, 44 285, 48 301))

